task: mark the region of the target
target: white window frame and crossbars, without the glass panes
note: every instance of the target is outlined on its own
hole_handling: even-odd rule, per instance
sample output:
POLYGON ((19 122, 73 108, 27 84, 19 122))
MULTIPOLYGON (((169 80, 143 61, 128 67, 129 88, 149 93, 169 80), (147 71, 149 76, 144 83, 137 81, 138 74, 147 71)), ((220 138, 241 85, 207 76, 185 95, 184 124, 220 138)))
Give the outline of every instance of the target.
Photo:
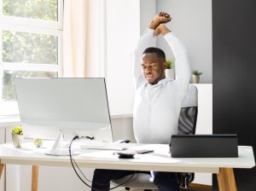
POLYGON ((18 114, 17 101, 3 101, 3 72, 11 71, 39 71, 39 72, 57 72, 58 77, 62 77, 63 69, 63 0, 58 1, 58 20, 38 20, 24 17, 9 16, 3 14, 3 0, 0 0, 0 115, 18 114), (35 64, 35 63, 19 63, 3 61, 3 31, 10 32, 28 32, 36 34, 53 35, 58 38, 58 63, 53 64, 35 64))

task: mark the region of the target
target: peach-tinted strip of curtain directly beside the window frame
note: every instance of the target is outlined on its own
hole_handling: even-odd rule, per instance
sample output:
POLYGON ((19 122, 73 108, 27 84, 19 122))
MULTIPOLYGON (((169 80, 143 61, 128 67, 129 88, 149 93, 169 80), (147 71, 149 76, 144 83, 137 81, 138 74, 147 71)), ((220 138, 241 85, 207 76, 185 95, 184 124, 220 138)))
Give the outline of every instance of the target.
POLYGON ((84 77, 88 0, 64 0, 63 76, 84 77))

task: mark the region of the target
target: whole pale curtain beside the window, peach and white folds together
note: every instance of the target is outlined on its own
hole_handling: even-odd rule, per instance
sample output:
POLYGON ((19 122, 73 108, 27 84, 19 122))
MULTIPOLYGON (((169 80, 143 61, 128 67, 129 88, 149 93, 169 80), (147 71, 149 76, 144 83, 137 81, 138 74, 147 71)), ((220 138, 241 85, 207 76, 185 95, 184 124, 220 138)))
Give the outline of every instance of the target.
POLYGON ((101 76, 104 1, 64 0, 63 77, 101 76))

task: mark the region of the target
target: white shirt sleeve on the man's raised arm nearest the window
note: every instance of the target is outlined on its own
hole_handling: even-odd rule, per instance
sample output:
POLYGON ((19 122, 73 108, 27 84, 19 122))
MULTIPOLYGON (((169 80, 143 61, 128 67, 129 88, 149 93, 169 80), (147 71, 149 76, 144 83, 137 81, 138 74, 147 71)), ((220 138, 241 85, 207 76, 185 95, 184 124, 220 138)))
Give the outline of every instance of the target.
POLYGON ((143 33, 139 41, 137 42, 137 47, 135 49, 134 58, 133 58, 134 59, 133 60, 133 78, 134 78, 136 88, 138 88, 139 85, 145 81, 145 78, 143 76, 141 58, 143 55, 143 51, 150 46, 150 43, 153 38, 154 38, 154 30, 148 28, 143 33))

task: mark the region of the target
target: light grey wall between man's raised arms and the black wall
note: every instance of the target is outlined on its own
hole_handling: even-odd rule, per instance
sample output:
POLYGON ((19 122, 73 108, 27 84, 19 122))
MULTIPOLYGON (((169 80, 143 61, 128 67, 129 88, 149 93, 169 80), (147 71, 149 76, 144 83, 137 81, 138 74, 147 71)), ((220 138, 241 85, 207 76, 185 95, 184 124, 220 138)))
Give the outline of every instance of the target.
MULTIPOLYGON (((212 83, 212 0, 161 0, 156 1, 157 13, 166 11, 172 16, 168 26, 175 32, 189 52, 192 70, 200 70, 201 83, 212 83)), ((172 56, 164 38, 157 46, 172 56)))

